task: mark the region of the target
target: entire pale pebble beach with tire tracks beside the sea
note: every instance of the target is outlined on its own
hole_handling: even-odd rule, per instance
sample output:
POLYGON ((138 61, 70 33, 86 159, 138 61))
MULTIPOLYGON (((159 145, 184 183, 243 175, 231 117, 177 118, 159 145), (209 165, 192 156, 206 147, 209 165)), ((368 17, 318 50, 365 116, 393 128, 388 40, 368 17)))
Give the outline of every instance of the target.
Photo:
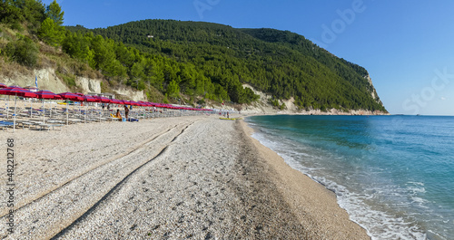
POLYGON ((217 116, 4 131, 2 143, 15 139, 15 233, 2 201, 0 238, 369 239, 250 133, 217 116))

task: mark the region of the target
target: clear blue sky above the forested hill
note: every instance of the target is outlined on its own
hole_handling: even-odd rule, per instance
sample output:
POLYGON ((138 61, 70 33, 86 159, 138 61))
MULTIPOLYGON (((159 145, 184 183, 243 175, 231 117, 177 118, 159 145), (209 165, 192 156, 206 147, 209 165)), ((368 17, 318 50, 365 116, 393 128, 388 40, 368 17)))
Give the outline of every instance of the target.
MULTIPOLYGON (((44 4, 51 1, 44 0, 44 4)), ((365 67, 391 113, 454 115, 454 1, 57 0, 64 24, 176 19, 304 35, 365 67)))

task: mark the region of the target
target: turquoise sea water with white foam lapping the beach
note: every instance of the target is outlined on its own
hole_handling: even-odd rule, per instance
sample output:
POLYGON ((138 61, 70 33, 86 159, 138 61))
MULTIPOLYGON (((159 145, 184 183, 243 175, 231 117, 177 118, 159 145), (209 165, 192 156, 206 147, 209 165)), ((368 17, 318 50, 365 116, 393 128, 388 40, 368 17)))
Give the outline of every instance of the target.
POLYGON ((454 117, 258 116, 252 135, 372 239, 454 239, 454 117))

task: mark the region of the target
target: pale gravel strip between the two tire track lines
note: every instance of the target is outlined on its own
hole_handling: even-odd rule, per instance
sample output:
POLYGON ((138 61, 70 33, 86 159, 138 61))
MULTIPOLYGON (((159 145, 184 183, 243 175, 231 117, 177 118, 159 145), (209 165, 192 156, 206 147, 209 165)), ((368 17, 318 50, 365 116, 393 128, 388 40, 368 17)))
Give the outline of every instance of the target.
MULTIPOLYGON (((95 167, 22 206, 15 211, 15 233, 6 235, 2 230, 0 238, 48 239, 59 235, 88 215, 137 169, 161 155, 192 124, 193 121, 170 128, 124 156, 95 167)), ((0 221, 5 221, 5 216, 0 221)))

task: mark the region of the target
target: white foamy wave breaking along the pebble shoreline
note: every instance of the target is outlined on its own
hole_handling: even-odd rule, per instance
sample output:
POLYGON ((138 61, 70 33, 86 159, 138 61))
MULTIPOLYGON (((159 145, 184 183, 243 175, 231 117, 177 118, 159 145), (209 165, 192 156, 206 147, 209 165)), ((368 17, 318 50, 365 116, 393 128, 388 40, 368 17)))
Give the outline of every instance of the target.
MULTIPOLYGON (((258 125, 252 126, 252 128, 257 127, 258 125)), ((306 166, 301 162, 301 158, 305 158, 304 163, 307 163, 308 158, 317 161, 317 159, 326 156, 321 157, 320 152, 318 154, 314 149, 302 146, 300 142, 294 142, 284 136, 271 135, 272 132, 272 130, 261 128, 252 134, 252 138, 259 140, 262 145, 275 151, 291 168, 301 171, 301 173, 333 191, 337 196, 339 206, 347 211, 350 220, 366 229, 371 239, 443 239, 433 233, 431 234, 432 237, 428 237, 428 234, 419 226, 416 219, 395 212, 384 204, 380 205, 374 202, 374 199, 383 195, 382 188, 370 188, 365 194, 355 191, 353 187, 337 182, 336 178, 339 178, 339 176, 321 175, 321 172, 327 174, 330 171, 314 162, 311 162, 310 166, 306 166)), ((411 196, 411 203, 408 203, 409 205, 419 203, 420 206, 423 206, 426 202, 425 199, 417 197, 418 193, 425 192, 423 183, 409 182, 407 189, 396 190, 394 193, 396 197, 401 196, 400 191, 414 193, 411 196)))

